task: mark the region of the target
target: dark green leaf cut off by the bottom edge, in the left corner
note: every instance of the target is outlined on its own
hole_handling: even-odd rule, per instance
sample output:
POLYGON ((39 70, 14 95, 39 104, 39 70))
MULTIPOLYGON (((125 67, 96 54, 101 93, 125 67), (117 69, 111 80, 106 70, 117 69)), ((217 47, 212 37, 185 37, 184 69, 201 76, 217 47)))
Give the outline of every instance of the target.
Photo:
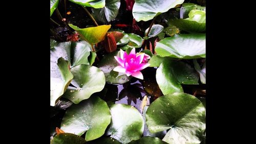
POLYGON ((56 135, 51 144, 85 144, 86 140, 78 135, 71 133, 61 133, 56 135))

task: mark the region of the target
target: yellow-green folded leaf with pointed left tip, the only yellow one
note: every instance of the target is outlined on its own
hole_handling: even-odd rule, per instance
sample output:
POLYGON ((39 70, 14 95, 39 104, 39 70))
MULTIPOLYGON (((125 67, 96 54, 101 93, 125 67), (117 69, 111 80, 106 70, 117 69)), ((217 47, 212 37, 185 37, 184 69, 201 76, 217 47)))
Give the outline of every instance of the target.
POLYGON ((106 32, 110 29, 111 25, 101 25, 97 27, 90 27, 80 29, 77 26, 69 24, 83 40, 86 40, 89 44, 94 45, 104 40, 106 32))

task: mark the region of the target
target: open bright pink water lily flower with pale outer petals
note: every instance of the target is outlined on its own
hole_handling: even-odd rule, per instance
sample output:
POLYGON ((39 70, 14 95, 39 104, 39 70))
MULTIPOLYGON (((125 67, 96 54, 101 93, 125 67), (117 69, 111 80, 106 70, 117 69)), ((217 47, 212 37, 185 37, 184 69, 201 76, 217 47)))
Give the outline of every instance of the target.
POLYGON ((135 48, 132 49, 130 54, 127 54, 120 49, 120 57, 115 56, 115 59, 119 66, 115 67, 113 71, 125 73, 127 76, 132 75, 139 79, 143 79, 143 75, 140 71, 150 66, 150 64, 142 63, 144 57, 145 53, 136 54, 135 48))

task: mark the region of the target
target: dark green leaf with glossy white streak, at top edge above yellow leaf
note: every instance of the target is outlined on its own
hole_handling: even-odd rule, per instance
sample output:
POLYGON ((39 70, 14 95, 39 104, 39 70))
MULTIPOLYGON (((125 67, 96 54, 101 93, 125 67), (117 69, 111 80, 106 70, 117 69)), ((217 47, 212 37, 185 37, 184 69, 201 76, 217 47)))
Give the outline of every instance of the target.
POLYGON ((110 22, 115 19, 120 7, 120 0, 105 0, 105 7, 101 9, 93 9, 93 17, 102 23, 110 22))

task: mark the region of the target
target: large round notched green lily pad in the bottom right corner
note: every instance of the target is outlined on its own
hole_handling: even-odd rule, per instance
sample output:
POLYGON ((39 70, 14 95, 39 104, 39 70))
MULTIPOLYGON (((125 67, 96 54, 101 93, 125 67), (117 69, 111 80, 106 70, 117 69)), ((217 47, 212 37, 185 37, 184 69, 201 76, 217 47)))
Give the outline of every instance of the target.
POLYGON ((190 94, 164 95, 148 107, 146 124, 151 132, 170 129, 163 138, 168 143, 200 143, 205 131, 205 108, 190 94))

